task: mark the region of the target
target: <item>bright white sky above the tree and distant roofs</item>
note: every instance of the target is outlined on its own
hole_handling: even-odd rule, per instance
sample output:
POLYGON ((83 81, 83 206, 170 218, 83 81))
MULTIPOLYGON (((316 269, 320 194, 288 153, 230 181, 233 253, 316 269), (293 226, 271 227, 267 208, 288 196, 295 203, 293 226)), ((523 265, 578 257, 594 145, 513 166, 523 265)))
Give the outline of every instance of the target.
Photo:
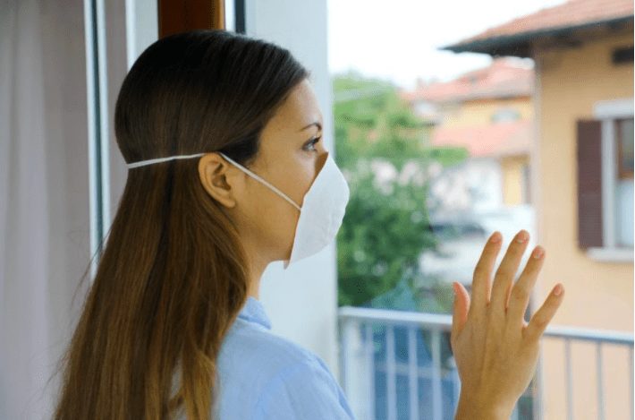
MULTIPOLYGON (((487 66, 484 54, 439 51, 564 0, 327 0, 330 73, 356 70, 412 89, 487 66), (386 7, 386 4, 389 7, 386 7)), ((520 64, 531 66, 530 59, 520 64)))

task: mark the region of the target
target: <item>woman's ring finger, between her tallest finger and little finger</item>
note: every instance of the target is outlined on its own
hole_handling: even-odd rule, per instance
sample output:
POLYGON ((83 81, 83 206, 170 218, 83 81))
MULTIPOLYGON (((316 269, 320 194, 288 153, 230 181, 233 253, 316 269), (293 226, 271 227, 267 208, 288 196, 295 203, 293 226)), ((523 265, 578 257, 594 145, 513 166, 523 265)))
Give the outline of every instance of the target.
POLYGON ((538 279, 538 273, 542 269, 544 261, 545 248, 538 245, 531 253, 529 261, 527 261, 525 265, 525 269, 522 270, 520 279, 518 279, 512 288, 507 308, 507 324, 512 329, 521 327, 521 320, 524 320, 525 311, 527 311, 527 305, 531 297, 531 291, 536 285, 536 279, 538 279))

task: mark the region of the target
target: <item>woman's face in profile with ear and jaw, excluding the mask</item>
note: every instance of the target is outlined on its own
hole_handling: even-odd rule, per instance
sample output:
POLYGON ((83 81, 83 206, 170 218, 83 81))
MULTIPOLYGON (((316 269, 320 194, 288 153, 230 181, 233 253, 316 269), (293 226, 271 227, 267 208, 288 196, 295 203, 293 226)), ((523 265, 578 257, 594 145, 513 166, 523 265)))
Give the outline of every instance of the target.
MULTIPOLYGON (((322 136, 322 126, 318 99, 305 79, 264 127, 249 169, 301 206, 326 161, 324 141, 316 141, 322 136)), ((265 265, 288 259, 300 211, 216 153, 201 158, 199 167, 204 161, 211 165, 201 172, 201 181, 224 204, 250 256, 265 265), (224 179, 219 182, 221 176, 224 179)))

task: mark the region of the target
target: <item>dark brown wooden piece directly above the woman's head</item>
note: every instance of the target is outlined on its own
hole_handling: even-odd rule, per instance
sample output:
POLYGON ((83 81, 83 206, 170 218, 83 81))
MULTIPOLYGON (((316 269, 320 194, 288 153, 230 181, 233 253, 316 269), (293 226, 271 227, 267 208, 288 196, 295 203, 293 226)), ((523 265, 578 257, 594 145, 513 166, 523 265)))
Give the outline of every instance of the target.
POLYGON ((158 0, 159 38, 189 30, 224 30, 224 0, 158 0))

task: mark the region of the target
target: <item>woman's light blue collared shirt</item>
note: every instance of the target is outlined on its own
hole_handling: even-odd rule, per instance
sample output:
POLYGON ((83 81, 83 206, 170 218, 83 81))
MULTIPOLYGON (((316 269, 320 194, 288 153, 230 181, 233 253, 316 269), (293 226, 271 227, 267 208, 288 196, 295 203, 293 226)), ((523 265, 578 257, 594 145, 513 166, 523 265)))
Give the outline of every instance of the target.
POLYGON ((217 359, 220 420, 354 420, 324 361, 271 332, 263 304, 249 296, 217 359))

